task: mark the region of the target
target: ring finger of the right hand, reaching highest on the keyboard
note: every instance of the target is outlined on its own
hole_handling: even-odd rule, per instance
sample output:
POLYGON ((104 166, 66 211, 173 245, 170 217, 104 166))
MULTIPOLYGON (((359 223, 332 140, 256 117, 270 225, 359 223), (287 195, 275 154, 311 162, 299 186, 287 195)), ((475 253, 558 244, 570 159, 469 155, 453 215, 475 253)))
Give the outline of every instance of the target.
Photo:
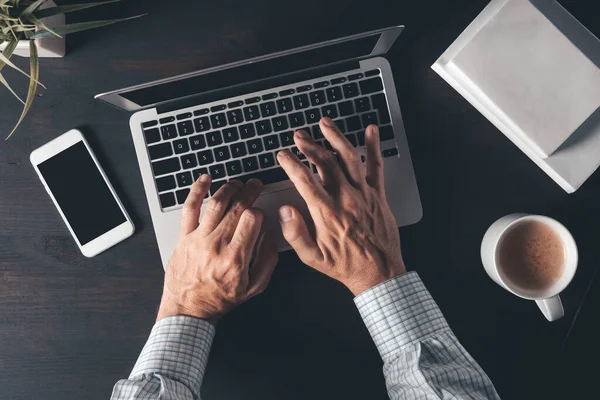
POLYGON ((331 146, 339 154, 344 166, 346 167, 348 181, 355 187, 364 187, 365 168, 360 158, 360 153, 352 143, 340 132, 335 122, 331 118, 321 118, 319 121, 321 132, 325 139, 331 143, 331 146))

